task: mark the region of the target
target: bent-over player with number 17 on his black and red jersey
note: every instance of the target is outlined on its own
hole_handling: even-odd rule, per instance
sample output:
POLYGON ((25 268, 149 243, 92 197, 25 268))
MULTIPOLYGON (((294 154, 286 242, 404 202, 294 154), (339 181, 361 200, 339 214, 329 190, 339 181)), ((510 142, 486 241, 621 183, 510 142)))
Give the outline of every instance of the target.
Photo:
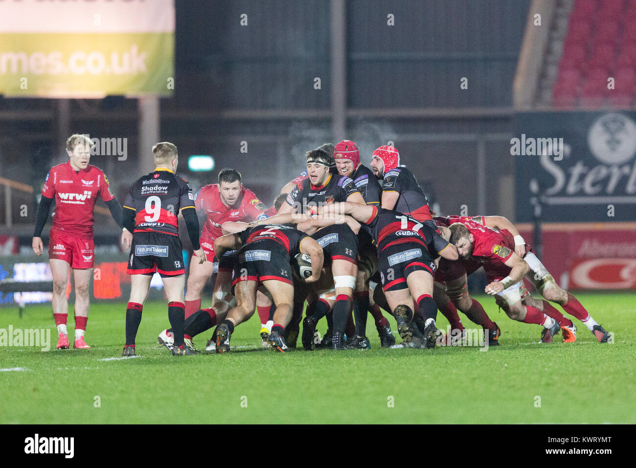
POLYGON ((322 207, 322 213, 351 215, 370 229, 378 247, 382 288, 396 318, 397 331, 404 340, 402 345, 396 346, 434 348, 440 333, 435 325, 437 306, 432 299, 434 259, 439 256, 459 259, 455 246, 429 225, 390 209, 342 202, 322 207), (413 303, 424 316, 424 335, 410 325, 413 311, 406 304, 413 303))

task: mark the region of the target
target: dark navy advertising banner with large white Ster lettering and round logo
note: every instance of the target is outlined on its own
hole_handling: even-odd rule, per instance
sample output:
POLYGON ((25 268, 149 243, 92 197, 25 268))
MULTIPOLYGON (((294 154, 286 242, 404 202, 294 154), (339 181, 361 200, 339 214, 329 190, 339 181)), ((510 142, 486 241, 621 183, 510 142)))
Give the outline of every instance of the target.
POLYGON ((636 221, 636 112, 515 116, 516 221, 636 221))

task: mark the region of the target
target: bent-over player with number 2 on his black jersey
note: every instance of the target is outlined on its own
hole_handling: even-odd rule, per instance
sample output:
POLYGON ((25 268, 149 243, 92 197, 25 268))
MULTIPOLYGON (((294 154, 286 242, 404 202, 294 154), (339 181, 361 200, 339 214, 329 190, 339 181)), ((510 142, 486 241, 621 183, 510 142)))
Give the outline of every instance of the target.
POLYGON ((230 351, 234 328, 254 314, 256 291, 260 285, 272 295, 276 308, 268 342, 274 350, 287 351, 285 327, 291 320, 294 302, 290 260, 298 253, 309 255, 312 259, 312 275, 305 281, 317 281, 324 259, 321 246, 300 230, 268 224, 247 227, 236 234, 226 234, 214 240, 217 256, 223 255, 226 250, 239 250, 233 280, 237 306, 230 310, 227 318, 216 329, 216 352, 230 351))

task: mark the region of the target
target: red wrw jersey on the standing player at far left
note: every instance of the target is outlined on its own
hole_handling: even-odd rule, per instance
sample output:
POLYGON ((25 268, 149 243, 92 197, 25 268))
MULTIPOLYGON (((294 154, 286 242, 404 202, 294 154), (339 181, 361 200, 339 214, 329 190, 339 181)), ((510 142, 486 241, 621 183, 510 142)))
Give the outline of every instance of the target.
POLYGON ((97 196, 104 201, 114 199, 102 169, 88 164, 86 169, 76 172, 70 160, 48 171, 42 195, 55 198, 51 229, 82 239, 93 237, 93 209, 97 196))

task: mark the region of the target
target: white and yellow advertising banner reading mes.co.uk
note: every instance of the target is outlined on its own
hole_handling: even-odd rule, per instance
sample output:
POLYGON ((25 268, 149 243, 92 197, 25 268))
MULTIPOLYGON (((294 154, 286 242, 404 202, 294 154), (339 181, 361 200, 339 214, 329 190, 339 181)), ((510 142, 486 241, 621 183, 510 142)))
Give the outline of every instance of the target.
POLYGON ((0 0, 0 94, 170 96, 174 0, 0 0))

